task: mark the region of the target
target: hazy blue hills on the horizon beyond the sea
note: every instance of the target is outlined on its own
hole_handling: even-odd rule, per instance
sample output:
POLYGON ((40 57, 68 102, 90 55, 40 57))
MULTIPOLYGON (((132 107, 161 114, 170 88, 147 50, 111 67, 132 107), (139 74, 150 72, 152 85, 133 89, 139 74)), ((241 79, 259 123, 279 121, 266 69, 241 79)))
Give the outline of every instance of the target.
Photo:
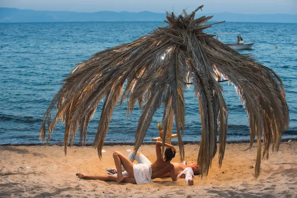
MULTIPOLYGON (((179 15, 180 13, 175 13, 179 15)), ((201 13, 196 17, 213 16, 210 21, 251 22, 251 23, 297 23, 297 14, 240 14, 231 12, 201 13)), ((152 22, 166 20, 166 13, 141 12, 74 12, 47 11, 0 7, 0 23, 27 22, 152 22)))

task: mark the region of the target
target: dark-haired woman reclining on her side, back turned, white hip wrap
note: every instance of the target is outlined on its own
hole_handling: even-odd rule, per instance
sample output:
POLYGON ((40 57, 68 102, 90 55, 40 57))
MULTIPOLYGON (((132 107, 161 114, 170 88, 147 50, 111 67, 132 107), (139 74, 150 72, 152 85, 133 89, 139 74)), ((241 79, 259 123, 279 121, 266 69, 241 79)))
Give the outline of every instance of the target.
POLYGON ((156 155, 157 159, 151 164, 133 164, 124 154, 119 151, 113 153, 115 167, 118 171, 117 176, 113 175, 84 175, 81 173, 76 174, 79 178, 95 179, 101 181, 114 181, 117 183, 132 183, 132 184, 146 184, 152 182, 152 179, 169 174, 172 181, 176 181, 176 174, 174 165, 170 163, 171 159, 175 157, 176 149, 165 143, 164 157, 161 153, 162 142, 156 142, 156 155), (129 173, 129 176, 123 176, 122 165, 129 173))

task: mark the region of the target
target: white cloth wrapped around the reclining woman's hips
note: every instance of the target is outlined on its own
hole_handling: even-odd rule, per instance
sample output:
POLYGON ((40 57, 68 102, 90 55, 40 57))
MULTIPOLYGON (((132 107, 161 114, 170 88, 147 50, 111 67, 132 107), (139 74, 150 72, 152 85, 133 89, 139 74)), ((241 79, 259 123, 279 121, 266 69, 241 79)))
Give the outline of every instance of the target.
POLYGON ((136 184, 147 184, 152 182, 150 164, 134 164, 133 173, 136 184))

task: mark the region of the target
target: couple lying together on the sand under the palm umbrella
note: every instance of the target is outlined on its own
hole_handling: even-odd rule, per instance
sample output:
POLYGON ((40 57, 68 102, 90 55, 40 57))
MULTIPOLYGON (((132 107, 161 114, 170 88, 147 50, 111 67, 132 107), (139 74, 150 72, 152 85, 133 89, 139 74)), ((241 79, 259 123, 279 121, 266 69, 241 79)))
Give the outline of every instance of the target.
MULTIPOLYGON (((119 151, 113 153, 114 163, 117 173, 114 175, 84 175, 78 173, 79 178, 95 179, 101 181, 114 181, 117 183, 132 183, 132 184, 146 184, 152 182, 152 179, 171 177, 172 181, 178 178, 185 178, 186 183, 193 185, 192 180, 194 175, 199 174, 198 166, 195 163, 181 164, 170 162, 175 157, 176 149, 167 143, 164 152, 164 157, 161 153, 162 142, 156 142, 156 155, 157 159, 151 163, 147 157, 142 153, 136 154, 131 152, 128 157, 119 151), (138 164, 134 164, 136 160, 138 164)), ((110 172, 112 174, 112 172, 110 172)))

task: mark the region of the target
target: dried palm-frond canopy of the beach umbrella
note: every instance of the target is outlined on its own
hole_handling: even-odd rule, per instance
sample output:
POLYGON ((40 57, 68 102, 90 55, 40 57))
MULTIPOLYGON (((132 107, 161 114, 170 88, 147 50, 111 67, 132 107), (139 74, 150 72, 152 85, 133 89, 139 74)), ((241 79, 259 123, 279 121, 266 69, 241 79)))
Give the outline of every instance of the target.
POLYGON ((205 24, 212 16, 195 19, 198 7, 191 14, 184 10, 175 16, 167 12, 168 26, 155 29, 134 42, 96 53, 79 64, 64 79, 61 90, 52 99, 43 118, 40 136, 49 137, 57 120, 65 122, 64 146, 73 144, 80 128, 80 140, 86 140, 88 125, 101 100, 103 106, 94 140, 101 157, 101 149, 108 131, 112 112, 118 101, 127 101, 127 115, 138 101, 142 114, 135 132, 135 150, 143 143, 152 116, 163 104, 163 128, 172 133, 173 122, 178 134, 181 160, 184 159, 182 136, 185 130, 186 83, 194 84, 198 97, 202 134, 197 164, 201 176, 207 175, 217 151, 219 135, 219 166, 226 146, 228 109, 222 95, 221 78, 234 85, 246 111, 250 129, 250 147, 257 139, 255 178, 262 158, 268 149, 277 151, 282 133, 289 126, 289 109, 281 79, 271 69, 255 62, 213 39, 203 32, 212 24, 205 24), (126 83, 126 85, 125 85, 126 83), (51 119, 51 110, 56 108, 51 119), (51 122, 52 120, 52 122, 51 122))

